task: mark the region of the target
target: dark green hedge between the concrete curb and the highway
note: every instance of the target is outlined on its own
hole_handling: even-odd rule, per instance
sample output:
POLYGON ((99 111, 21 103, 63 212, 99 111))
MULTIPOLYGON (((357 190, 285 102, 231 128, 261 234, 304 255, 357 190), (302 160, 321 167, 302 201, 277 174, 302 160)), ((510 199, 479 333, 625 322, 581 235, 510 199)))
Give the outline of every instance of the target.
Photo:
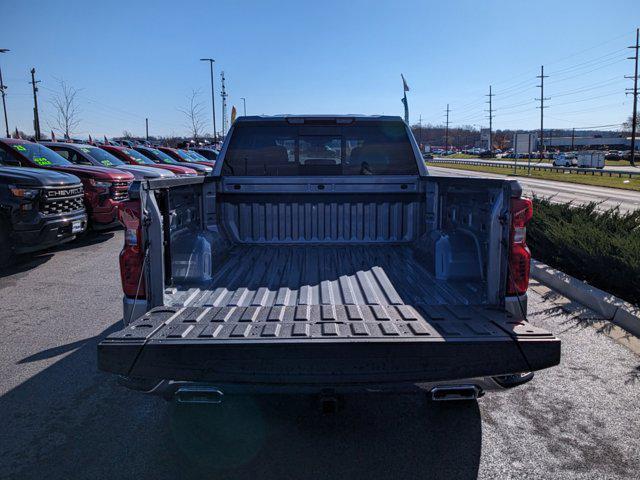
POLYGON ((640 210, 597 210, 534 199, 533 258, 640 305, 640 210))

